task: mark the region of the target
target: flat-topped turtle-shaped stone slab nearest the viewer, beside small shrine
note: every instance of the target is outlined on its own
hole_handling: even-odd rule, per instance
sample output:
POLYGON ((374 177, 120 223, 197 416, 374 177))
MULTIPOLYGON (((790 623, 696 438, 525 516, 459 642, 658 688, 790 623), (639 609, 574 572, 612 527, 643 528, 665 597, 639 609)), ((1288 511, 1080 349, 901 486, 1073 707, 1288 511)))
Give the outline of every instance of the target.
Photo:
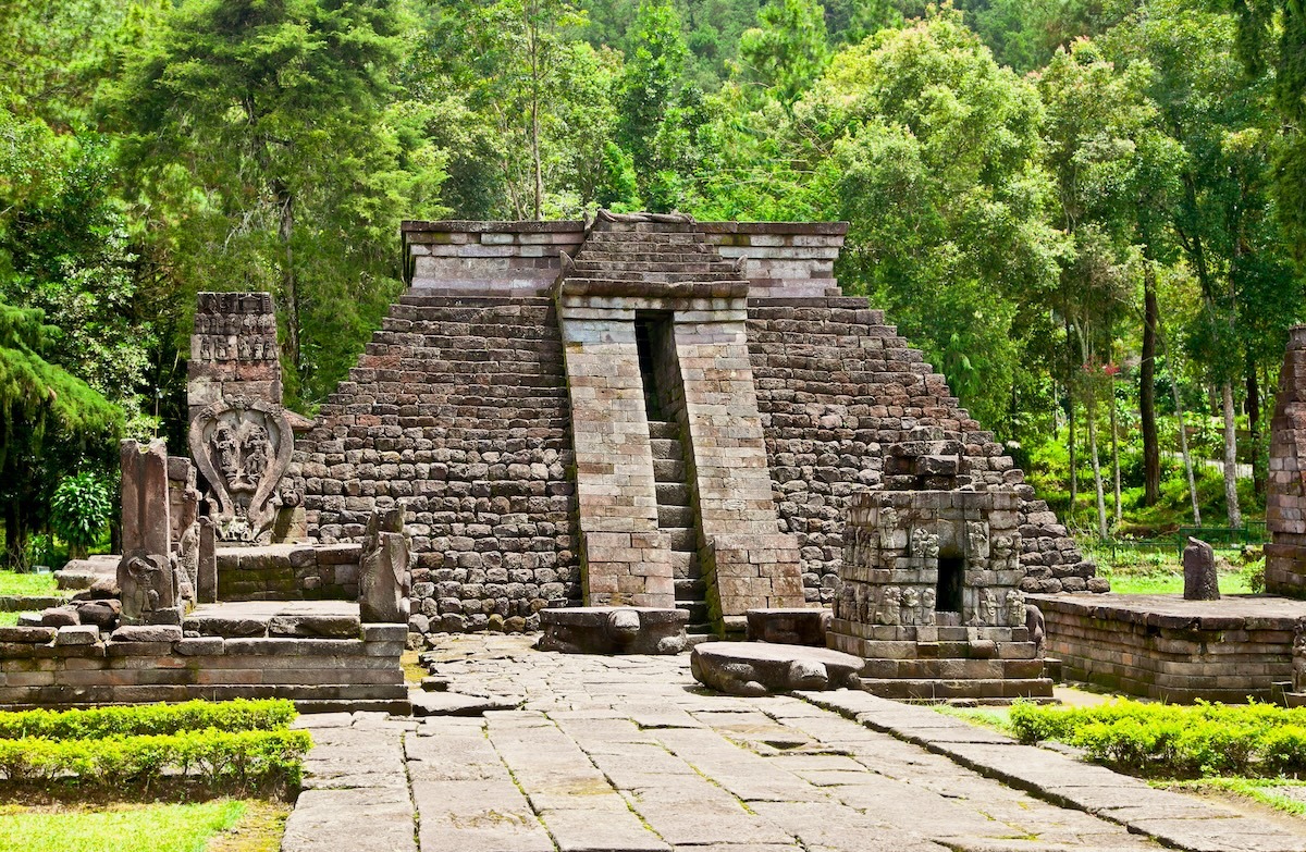
POLYGON ((850 686, 862 660, 804 646, 704 642, 690 655, 690 670, 704 686, 729 695, 767 695, 850 686))

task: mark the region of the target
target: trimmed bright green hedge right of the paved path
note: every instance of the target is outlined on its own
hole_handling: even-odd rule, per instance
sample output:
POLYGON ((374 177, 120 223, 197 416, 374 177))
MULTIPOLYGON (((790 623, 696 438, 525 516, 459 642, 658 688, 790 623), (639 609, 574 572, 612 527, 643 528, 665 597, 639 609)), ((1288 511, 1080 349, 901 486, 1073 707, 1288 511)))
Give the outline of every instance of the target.
POLYGON ((1077 708, 1016 703, 1010 724, 1023 742, 1058 740, 1138 775, 1306 772, 1306 708, 1205 702, 1179 707, 1123 699, 1077 708))

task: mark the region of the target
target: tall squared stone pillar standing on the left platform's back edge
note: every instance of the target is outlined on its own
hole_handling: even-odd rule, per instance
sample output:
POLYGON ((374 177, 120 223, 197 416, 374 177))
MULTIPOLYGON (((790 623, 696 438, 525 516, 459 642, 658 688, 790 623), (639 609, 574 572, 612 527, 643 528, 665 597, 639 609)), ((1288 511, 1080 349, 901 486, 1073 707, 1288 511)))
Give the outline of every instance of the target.
POLYGON ((118 585, 124 625, 182 623, 172 568, 167 447, 120 444, 123 465, 123 558, 118 585))

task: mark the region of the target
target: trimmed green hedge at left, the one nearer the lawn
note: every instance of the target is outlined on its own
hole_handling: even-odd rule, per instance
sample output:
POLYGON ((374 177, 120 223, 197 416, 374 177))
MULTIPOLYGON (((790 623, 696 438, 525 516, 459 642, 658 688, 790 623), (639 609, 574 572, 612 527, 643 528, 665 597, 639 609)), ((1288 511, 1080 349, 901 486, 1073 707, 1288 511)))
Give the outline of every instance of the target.
POLYGON ((63 742, 24 737, 0 740, 0 774, 20 783, 76 776, 81 783, 103 788, 149 785, 165 772, 193 776, 212 787, 294 787, 311 746, 307 730, 208 728, 63 742))

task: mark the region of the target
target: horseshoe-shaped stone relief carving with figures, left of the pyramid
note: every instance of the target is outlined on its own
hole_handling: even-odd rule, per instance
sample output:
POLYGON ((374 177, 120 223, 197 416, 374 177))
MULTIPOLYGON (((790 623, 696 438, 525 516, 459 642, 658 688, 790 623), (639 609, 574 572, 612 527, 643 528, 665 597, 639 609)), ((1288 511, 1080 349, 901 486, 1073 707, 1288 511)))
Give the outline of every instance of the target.
POLYGON ((294 435, 279 405, 234 397, 213 402, 191 421, 191 455, 209 483, 209 517, 219 541, 270 537, 285 503, 281 480, 294 435))

